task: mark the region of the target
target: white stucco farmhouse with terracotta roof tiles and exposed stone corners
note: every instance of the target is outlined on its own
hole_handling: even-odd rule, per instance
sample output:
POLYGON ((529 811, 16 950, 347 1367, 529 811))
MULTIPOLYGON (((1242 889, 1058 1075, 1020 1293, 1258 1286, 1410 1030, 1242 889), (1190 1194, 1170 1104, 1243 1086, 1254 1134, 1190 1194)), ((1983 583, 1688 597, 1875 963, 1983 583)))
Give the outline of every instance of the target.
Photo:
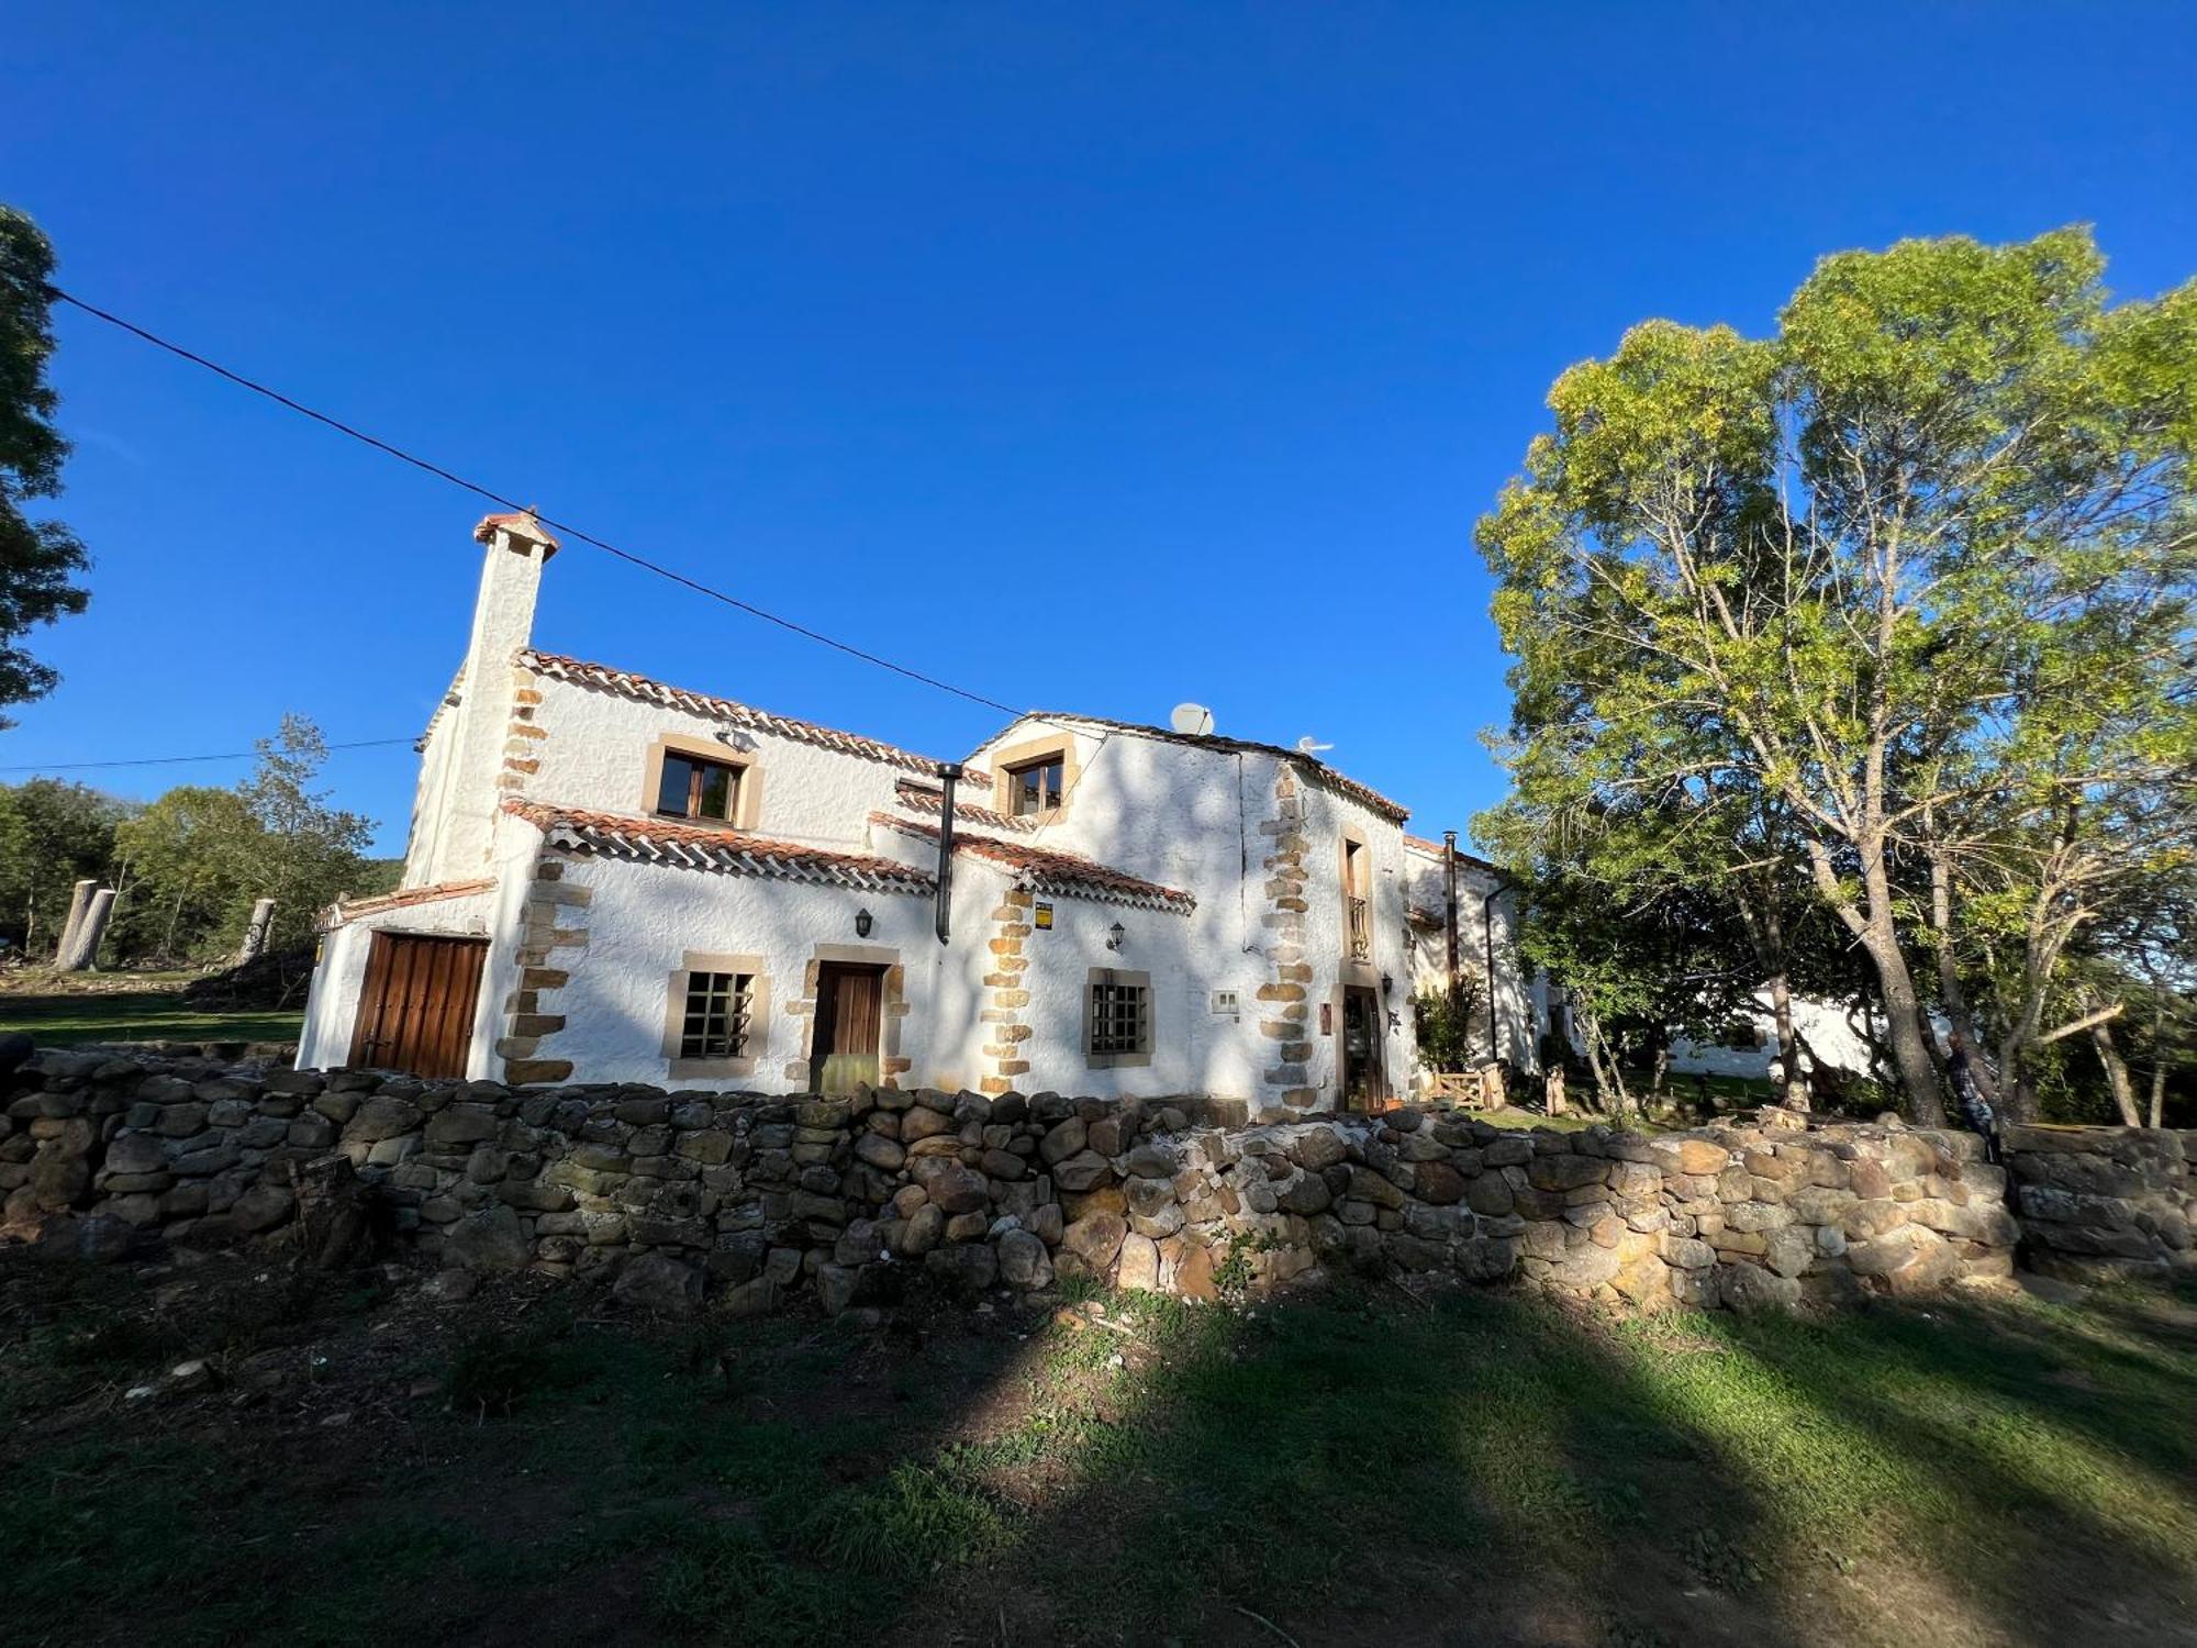
POLYGON ((1413 1090, 1452 905, 1531 1064, 1492 870, 1305 751, 1026 714, 938 762, 534 650, 556 541, 475 538, 404 877, 325 914, 301 1068, 1351 1107, 1413 1090))

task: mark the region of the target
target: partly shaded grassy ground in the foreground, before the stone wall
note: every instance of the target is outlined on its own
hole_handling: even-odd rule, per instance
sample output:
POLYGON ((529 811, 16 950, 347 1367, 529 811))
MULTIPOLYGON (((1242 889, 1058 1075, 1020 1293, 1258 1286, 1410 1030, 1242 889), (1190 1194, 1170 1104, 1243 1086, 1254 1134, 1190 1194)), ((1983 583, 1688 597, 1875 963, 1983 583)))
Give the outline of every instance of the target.
POLYGON ((2164 1299, 1094 1303, 648 1327, 0 1257, 0 1635, 1914 1648, 2197 1600, 2164 1299), (213 1389, 125 1395, 185 1354, 213 1389))

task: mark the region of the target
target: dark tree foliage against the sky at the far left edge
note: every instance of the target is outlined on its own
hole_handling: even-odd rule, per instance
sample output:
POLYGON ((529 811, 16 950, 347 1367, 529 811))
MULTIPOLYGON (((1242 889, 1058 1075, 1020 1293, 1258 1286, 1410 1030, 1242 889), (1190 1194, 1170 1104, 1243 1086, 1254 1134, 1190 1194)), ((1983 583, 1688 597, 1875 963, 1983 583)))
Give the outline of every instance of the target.
MULTIPOLYGON (((53 246, 29 218, 0 207, 0 705, 29 703, 59 679, 22 637, 90 595, 75 580, 90 567, 83 545, 59 521, 33 521, 29 499, 62 490, 68 442, 53 426, 57 396, 46 385, 53 356, 53 246)), ((0 716, 0 727, 13 721, 0 716)))

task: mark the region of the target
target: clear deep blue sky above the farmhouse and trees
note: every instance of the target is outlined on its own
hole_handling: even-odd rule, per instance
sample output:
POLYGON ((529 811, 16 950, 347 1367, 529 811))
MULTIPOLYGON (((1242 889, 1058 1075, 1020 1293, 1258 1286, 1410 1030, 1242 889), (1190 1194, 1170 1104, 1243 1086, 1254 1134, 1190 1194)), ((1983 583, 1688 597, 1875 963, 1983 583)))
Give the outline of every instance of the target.
MULTIPOLYGON (((1316 734, 1439 833, 1501 793, 1472 521, 1558 371, 1903 235, 2085 220, 2173 286, 2193 86, 2193 4, 33 0, 0 198, 90 301, 615 543, 1008 703, 1316 734)), ((481 505, 81 316, 57 382, 94 602, 0 765, 424 725, 481 505)), ((997 721, 587 547, 536 639, 997 721)), ((402 846, 409 749, 327 778, 402 846)))

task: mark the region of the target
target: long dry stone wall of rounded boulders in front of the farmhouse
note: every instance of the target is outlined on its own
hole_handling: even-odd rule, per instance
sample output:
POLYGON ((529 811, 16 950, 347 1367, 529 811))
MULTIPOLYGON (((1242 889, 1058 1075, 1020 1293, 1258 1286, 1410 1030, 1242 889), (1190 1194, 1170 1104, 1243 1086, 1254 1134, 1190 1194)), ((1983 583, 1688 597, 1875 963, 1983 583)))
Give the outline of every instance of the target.
POLYGON ((1661 1138, 1441 1110, 1241 1125, 1191 1101, 505 1088, 114 1050, 42 1053, 7 1099, 15 1237, 299 1239, 301 1193, 312 1215, 336 1169, 448 1268, 615 1272, 663 1310, 841 1310, 914 1274, 1208 1299, 1314 1270, 1744 1310, 2006 1277, 2019 1235, 1977 1138, 1786 1112, 1661 1138))

